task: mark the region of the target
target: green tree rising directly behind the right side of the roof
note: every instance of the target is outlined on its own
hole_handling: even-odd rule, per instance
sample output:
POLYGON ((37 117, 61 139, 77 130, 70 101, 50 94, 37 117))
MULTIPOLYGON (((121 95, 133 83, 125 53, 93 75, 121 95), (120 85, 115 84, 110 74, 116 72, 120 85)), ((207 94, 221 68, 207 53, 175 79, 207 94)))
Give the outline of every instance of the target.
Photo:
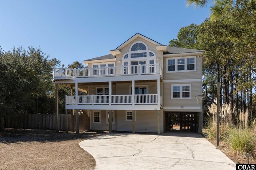
POLYGON ((198 28, 196 24, 182 27, 178 33, 178 39, 170 40, 169 46, 194 49, 197 43, 198 28))

